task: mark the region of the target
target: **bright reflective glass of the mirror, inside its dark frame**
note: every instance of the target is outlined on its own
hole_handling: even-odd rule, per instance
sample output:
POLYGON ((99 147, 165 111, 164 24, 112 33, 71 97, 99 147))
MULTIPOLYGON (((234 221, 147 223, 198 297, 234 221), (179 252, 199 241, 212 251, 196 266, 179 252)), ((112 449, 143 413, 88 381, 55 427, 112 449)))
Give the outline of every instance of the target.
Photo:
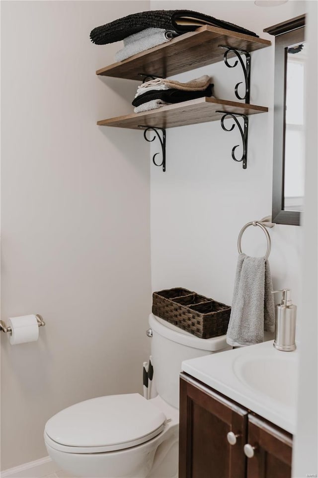
POLYGON ((305 174, 305 42, 286 48, 284 210, 303 211, 305 174))

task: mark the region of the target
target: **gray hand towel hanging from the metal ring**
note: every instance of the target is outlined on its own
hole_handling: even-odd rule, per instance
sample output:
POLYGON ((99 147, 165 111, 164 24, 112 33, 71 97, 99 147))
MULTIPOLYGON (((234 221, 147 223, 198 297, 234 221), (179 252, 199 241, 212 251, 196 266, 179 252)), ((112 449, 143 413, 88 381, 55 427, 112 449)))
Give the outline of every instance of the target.
POLYGON ((264 330, 275 329, 272 278, 264 257, 239 254, 233 304, 227 332, 232 347, 263 342, 264 330))

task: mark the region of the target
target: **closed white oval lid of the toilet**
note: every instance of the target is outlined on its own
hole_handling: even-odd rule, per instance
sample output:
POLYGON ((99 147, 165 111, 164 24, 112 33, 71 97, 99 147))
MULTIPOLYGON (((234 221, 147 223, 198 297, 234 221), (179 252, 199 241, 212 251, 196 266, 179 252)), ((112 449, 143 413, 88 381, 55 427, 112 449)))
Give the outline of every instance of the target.
POLYGON ((108 395, 72 405, 45 426, 47 443, 76 453, 122 450, 157 436, 166 420, 138 393, 108 395))

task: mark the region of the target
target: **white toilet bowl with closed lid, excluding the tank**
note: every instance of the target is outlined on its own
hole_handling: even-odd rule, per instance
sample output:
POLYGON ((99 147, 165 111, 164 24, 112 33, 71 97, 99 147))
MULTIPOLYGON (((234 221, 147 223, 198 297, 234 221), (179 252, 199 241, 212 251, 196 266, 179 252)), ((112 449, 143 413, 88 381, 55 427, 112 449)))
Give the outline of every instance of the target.
MULTIPOLYGON (((62 410, 47 422, 44 440, 50 457, 75 476, 163 478, 150 472, 169 460, 178 424, 178 410, 159 396, 109 395, 62 410)), ((177 467, 170 465, 165 476, 172 478, 177 467)))

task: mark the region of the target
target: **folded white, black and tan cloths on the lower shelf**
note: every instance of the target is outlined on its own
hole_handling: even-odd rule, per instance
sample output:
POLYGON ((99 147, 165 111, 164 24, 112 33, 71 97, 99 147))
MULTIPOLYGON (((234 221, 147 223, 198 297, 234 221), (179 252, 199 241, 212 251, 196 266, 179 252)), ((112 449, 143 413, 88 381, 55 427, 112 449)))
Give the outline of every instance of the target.
POLYGON ((133 106, 134 112, 154 110, 165 105, 181 103, 196 98, 211 97, 213 84, 208 75, 181 83, 166 78, 156 78, 140 85, 133 106))

